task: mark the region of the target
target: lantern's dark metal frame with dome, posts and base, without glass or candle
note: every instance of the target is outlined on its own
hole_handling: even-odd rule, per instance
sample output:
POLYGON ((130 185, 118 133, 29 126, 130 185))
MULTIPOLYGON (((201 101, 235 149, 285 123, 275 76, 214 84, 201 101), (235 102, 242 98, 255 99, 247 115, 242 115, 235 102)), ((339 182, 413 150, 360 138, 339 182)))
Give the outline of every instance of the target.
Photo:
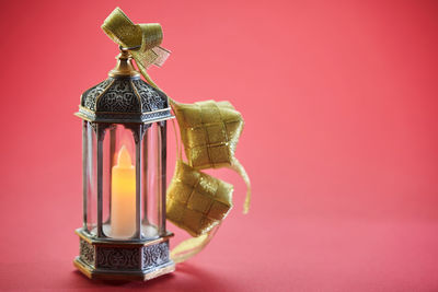
POLYGON ((117 59, 108 79, 81 95, 81 105, 76 114, 83 119, 83 225, 76 231, 80 238, 80 252, 73 264, 91 279, 149 280, 175 269, 169 255, 169 240, 173 234, 165 229, 166 120, 173 116, 166 95, 140 79, 129 51, 120 48, 117 59), (157 202, 160 214, 158 236, 150 238, 142 235, 141 213, 147 212, 146 208, 141 208, 142 179, 147 172, 142 163, 142 154, 147 152, 142 151, 147 151, 145 133, 154 122, 159 126, 161 139, 161 198, 157 202), (110 132, 111 155, 114 155, 115 125, 130 130, 135 141, 136 232, 125 240, 107 236, 103 222, 103 141, 105 133, 110 132), (88 127, 92 127, 96 139, 97 218, 94 233, 88 227, 88 127))

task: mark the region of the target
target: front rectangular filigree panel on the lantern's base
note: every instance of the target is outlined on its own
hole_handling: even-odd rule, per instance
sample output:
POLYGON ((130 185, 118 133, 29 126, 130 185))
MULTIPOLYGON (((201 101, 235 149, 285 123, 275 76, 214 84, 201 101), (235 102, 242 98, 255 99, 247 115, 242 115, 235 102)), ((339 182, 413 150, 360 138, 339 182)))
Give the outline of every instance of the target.
POLYGON ((111 270, 138 270, 140 248, 97 247, 97 268, 111 270))

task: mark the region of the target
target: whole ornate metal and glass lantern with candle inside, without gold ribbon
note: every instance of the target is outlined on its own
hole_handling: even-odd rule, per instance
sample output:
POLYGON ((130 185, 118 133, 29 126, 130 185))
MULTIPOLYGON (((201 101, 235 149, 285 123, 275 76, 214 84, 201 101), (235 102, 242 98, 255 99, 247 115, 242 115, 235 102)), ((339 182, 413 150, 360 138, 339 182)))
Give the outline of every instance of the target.
POLYGON ((120 49, 108 78, 85 91, 83 225, 76 267, 89 278, 148 280, 174 270, 165 230, 168 97, 120 49))

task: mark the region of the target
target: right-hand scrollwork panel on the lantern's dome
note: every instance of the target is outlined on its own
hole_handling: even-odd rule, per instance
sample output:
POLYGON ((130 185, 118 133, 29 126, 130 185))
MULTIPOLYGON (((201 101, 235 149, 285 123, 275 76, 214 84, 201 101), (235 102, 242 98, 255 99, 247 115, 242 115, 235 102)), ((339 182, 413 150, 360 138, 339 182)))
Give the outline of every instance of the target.
POLYGON ((141 98, 142 112, 153 112, 168 107, 168 97, 164 93, 153 89, 141 79, 131 81, 141 98))

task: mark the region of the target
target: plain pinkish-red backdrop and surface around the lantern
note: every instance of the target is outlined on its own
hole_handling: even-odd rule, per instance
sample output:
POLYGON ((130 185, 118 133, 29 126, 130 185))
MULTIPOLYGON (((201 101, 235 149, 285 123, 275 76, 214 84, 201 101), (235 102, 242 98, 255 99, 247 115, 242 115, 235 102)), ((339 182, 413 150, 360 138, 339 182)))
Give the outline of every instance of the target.
MULTIPOLYGON (((436 1, 3 1, 0 289, 438 291, 436 1), (235 207, 177 271, 108 284, 77 272, 80 94, 117 47, 119 5, 160 22, 157 83, 243 113, 235 207)), ((170 131, 170 172, 174 142, 170 131)), ((173 243, 187 237, 176 232, 173 243)))

